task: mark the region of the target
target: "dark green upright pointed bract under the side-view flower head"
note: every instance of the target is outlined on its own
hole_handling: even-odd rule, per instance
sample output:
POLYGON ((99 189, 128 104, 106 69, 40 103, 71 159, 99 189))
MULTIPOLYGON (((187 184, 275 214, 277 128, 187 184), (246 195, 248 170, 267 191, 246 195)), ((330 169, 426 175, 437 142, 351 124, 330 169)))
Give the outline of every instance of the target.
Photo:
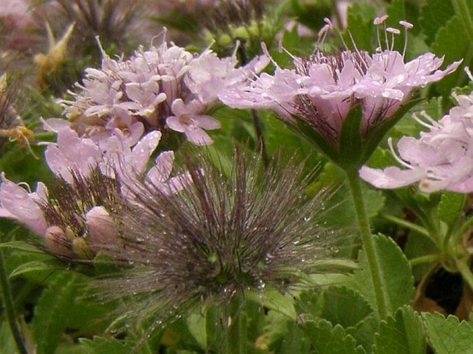
POLYGON ((340 156, 336 161, 342 167, 360 167, 363 163, 360 161, 363 149, 360 132, 362 117, 361 105, 356 105, 343 121, 340 131, 340 156))

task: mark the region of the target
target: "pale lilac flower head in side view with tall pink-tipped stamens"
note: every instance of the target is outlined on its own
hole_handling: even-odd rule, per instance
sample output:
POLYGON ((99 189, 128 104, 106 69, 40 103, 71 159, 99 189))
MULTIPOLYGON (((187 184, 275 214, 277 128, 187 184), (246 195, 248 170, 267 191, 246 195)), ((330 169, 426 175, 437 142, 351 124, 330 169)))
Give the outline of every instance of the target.
MULTIPOLYGON (((384 20, 379 18, 375 23, 384 20)), ((405 21, 401 25, 409 27, 405 21)), ((327 20, 320 36, 329 28, 327 20)), ((399 32, 386 31, 392 36, 399 32)), ((362 108, 360 129, 364 136, 392 116, 414 88, 442 79, 461 63, 439 70, 443 59, 432 53, 405 63, 404 53, 396 52, 389 43, 384 47, 374 54, 345 49, 334 55, 316 50, 308 59, 293 56, 291 70, 274 63, 275 74, 261 74, 250 85, 227 90, 221 99, 231 107, 270 108, 291 123, 296 123, 293 116, 299 116, 328 143, 338 146, 342 124, 355 105, 362 108)))

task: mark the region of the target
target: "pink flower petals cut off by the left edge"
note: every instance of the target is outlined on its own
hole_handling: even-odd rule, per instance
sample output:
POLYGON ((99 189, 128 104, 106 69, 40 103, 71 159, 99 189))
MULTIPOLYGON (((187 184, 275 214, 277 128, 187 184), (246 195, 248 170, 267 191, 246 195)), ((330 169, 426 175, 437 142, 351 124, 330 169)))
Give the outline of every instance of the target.
POLYGON ((48 197, 44 183, 38 183, 36 191, 30 192, 1 174, 0 217, 15 219, 25 224, 30 230, 44 236, 46 220, 40 204, 48 197))

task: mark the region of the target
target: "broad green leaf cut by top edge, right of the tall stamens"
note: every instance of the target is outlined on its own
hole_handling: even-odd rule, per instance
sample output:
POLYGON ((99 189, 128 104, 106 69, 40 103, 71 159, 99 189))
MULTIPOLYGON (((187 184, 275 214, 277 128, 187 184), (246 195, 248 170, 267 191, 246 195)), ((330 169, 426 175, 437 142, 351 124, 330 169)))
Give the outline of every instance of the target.
POLYGON ((427 43, 432 43, 435 36, 447 21, 454 16, 451 0, 426 0, 421 8, 420 23, 427 36, 427 43))

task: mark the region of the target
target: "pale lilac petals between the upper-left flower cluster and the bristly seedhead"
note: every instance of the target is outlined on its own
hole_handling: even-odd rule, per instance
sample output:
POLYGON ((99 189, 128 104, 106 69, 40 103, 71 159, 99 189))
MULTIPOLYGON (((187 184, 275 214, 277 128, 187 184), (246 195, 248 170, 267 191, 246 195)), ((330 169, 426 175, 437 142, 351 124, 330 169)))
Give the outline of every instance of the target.
POLYGON ((171 178, 173 152, 159 154, 148 169, 151 156, 160 143, 161 132, 149 132, 131 147, 120 129, 113 129, 110 136, 95 143, 90 138, 79 137, 62 119, 49 119, 45 128, 57 132, 57 143, 49 143, 46 148, 46 163, 69 185, 73 185, 75 176, 88 178, 97 168, 110 178, 119 178, 124 194, 127 194, 126 189, 133 189, 136 178, 154 181, 169 193, 179 191, 189 183, 188 176, 171 178))

